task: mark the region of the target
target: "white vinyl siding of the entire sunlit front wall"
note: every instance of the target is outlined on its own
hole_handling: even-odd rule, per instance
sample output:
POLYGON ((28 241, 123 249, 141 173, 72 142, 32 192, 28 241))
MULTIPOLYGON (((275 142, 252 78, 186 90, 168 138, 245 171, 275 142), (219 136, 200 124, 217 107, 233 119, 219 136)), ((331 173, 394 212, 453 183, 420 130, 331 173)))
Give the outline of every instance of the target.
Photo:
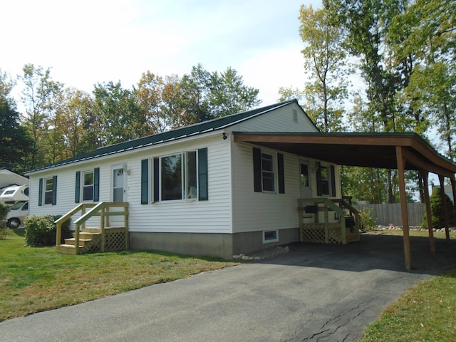
MULTIPOLYGON (((37 172, 31 177, 30 200, 38 203, 38 178, 58 174, 57 205, 53 207, 32 206, 31 214, 66 214, 76 207, 74 202, 76 171, 100 167, 100 202, 110 201, 113 184, 112 166, 120 162, 128 168, 125 201, 129 202, 130 232, 207 232, 231 233, 231 166, 229 163, 229 140, 222 135, 212 138, 195 139, 182 143, 145 148, 139 152, 119 153, 115 157, 99 158, 91 162, 53 169, 50 172, 37 172), (172 155, 185 150, 207 147, 208 190, 207 201, 165 201, 150 204, 141 202, 141 160, 155 156, 172 155)), ((152 170, 151 170, 152 172, 152 170)), ((81 177, 82 178, 82 177, 81 177)), ((152 190, 152 189, 150 189, 152 190)), ((75 215, 71 220, 78 219, 75 215)), ((99 217, 92 222, 98 227, 99 217)), ((90 221, 88 222, 90 225, 90 221)))

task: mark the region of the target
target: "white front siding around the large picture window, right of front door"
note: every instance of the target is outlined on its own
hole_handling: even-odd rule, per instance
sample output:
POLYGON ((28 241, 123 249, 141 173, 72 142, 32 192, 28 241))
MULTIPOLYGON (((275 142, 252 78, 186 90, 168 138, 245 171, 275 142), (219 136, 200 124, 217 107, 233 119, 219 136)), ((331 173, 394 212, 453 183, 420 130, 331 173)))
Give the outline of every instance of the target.
MULTIPOLYGON (((130 231, 132 232, 209 232, 231 233, 231 167, 229 164, 229 140, 221 135, 212 139, 195 140, 195 143, 160 147, 148 153, 135 155, 129 160, 131 177, 128 180, 130 202, 130 231), (184 150, 207 147, 208 190, 207 201, 180 200, 140 204, 141 160, 172 155, 184 150)), ((150 170, 152 176, 153 168, 150 170)), ((152 178, 150 178, 152 179, 152 178)), ((149 193, 153 194, 153 185, 149 193)))

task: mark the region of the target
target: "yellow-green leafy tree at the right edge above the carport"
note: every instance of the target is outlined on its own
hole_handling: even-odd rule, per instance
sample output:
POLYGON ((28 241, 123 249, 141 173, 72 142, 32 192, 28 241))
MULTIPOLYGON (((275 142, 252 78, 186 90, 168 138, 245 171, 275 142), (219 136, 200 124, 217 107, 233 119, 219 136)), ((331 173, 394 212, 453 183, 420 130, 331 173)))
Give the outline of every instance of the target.
POLYGON ((390 36, 398 59, 408 58, 410 82, 405 84, 405 97, 415 113, 425 113, 437 127, 445 142, 448 157, 455 153, 456 66, 454 14, 455 1, 411 1, 403 13, 395 16, 390 36))

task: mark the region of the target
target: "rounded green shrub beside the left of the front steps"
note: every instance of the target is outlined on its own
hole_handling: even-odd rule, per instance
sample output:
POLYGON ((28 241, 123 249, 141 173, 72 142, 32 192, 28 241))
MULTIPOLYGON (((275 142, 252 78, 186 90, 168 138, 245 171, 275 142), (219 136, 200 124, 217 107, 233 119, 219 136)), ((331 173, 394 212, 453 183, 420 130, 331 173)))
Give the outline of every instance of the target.
MULTIPOLYGON (((24 219, 26 244, 28 246, 52 246, 56 244, 57 227, 54 221, 61 216, 29 216, 24 219)), ((70 220, 62 224, 62 241, 71 237, 70 220)))

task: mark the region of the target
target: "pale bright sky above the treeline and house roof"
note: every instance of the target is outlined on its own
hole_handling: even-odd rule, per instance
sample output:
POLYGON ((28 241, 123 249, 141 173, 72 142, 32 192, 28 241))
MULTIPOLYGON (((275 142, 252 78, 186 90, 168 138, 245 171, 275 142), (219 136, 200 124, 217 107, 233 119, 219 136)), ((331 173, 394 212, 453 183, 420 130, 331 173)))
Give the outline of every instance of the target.
POLYGON ((15 0, 0 3, 0 70, 12 78, 26 63, 51 68, 65 86, 91 92, 141 74, 183 76, 198 63, 234 68, 261 105, 279 87, 304 88, 301 4, 321 0, 15 0))

